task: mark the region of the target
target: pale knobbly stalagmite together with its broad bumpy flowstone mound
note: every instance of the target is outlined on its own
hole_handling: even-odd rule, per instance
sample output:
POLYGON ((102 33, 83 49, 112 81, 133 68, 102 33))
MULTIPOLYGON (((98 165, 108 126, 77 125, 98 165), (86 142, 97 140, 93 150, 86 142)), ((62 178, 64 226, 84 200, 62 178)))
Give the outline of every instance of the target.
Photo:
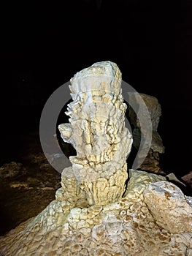
POLYGON ((55 200, 0 238, 0 255, 192 255, 192 197, 164 176, 126 171, 131 133, 117 65, 104 61, 72 79, 62 138, 77 156, 55 200))

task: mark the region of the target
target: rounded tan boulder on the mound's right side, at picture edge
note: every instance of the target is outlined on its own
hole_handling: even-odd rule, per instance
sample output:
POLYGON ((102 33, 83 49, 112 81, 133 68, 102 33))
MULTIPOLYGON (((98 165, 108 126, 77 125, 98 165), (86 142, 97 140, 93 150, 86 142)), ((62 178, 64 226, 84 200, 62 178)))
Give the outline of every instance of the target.
POLYGON ((161 227, 172 233, 191 232, 192 201, 168 181, 149 184, 143 193, 150 213, 161 227))

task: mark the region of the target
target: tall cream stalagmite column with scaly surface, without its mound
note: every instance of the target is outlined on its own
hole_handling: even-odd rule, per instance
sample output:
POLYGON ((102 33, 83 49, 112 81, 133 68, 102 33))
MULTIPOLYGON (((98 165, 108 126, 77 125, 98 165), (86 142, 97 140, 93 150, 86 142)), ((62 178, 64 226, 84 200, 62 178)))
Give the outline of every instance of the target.
POLYGON ((74 187, 80 187, 89 205, 113 203, 125 192, 126 157, 132 146, 125 127, 120 70, 110 61, 99 62, 77 72, 71 82, 69 124, 58 127, 64 141, 77 151, 77 156, 69 157, 72 169, 66 173, 71 170, 78 183, 74 187))

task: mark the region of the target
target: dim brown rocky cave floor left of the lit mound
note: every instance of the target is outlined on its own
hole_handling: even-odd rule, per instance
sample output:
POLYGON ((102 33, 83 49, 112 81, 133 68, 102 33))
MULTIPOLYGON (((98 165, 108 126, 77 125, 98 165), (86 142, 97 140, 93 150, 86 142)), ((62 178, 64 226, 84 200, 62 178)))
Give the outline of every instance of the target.
MULTIPOLYGON (((61 174, 43 154, 38 132, 22 135, 18 140, 22 141, 18 153, 0 159, 0 236, 37 216, 61 187, 61 174)), ((71 150, 66 146, 66 157, 71 150)), ((192 196, 192 189, 188 189, 192 196)))

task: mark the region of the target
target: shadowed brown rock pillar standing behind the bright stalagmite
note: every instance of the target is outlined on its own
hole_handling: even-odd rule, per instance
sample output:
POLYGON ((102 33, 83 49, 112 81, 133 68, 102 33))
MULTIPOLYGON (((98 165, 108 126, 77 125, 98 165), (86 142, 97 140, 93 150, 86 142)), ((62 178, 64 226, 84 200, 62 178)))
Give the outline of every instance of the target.
MULTIPOLYGON (((150 145, 150 151, 147 154, 145 161, 139 167, 139 169, 150 170, 153 173, 161 173, 161 167, 159 166, 159 153, 160 154, 164 153, 164 146, 163 146, 161 137, 157 131, 159 119, 161 116, 161 105, 159 104, 158 99, 156 99, 153 96, 150 96, 147 94, 139 94, 139 95, 142 97, 145 104, 147 105, 147 108, 150 113, 152 127, 153 127, 153 135, 152 135, 152 141, 150 145)), ((132 98, 131 100, 134 100, 137 102, 139 100, 139 97, 135 95, 135 97, 132 98)), ((142 113, 142 115, 145 116, 145 113, 142 113)), ((139 119, 137 118, 136 113, 130 106, 128 107, 128 116, 130 117, 131 124, 134 127, 134 130, 133 130, 134 147, 138 149, 140 145, 140 138, 141 138, 140 124, 139 124, 139 119)), ((148 132, 147 127, 145 127, 145 130, 143 132, 148 132)))

